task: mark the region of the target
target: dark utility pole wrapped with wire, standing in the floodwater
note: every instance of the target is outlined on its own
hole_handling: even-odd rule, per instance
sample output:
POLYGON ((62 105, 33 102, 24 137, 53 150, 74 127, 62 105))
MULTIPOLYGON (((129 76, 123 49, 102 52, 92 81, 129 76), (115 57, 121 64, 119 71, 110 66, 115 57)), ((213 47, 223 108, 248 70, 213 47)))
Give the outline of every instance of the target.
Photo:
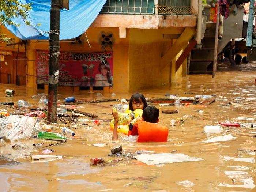
POLYGON ((60 56, 60 2, 52 0, 50 9, 49 33, 49 83, 48 116, 49 122, 57 121, 57 101, 60 56))

